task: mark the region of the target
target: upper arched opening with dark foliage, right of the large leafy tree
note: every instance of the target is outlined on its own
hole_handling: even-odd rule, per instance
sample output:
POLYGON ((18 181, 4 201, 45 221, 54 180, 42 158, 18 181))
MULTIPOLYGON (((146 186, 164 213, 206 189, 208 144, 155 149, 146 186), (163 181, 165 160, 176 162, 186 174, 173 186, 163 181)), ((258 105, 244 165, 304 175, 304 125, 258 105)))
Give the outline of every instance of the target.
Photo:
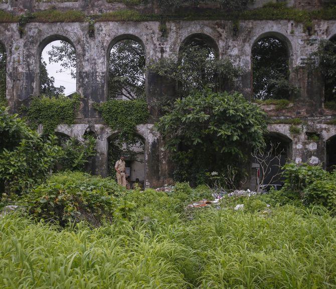
POLYGON ((254 99, 290 99, 295 93, 289 83, 289 51, 277 37, 263 37, 253 45, 252 73, 254 99))

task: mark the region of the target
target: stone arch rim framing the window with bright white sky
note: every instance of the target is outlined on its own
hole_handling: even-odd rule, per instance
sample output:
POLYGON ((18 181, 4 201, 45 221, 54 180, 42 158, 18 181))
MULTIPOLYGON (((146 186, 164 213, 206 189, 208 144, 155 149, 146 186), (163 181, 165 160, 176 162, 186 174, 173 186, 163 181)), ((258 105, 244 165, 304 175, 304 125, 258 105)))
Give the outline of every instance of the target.
POLYGON ((63 36, 61 34, 53 34, 50 35, 46 38, 44 38, 38 45, 38 49, 37 49, 37 55, 36 55, 36 74, 35 74, 35 88, 34 88, 34 93, 35 95, 40 95, 40 90, 41 90, 41 84, 40 84, 40 62, 41 62, 41 56, 42 56, 42 52, 45 49, 45 47, 54 42, 54 41, 58 41, 58 40, 63 40, 66 41, 67 43, 69 43, 76 52, 76 90, 78 90, 78 76, 79 76, 79 71, 78 71, 78 52, 77 52, 77 48, 74 44, 73 41, 71 41, 68 37, 63 36))

